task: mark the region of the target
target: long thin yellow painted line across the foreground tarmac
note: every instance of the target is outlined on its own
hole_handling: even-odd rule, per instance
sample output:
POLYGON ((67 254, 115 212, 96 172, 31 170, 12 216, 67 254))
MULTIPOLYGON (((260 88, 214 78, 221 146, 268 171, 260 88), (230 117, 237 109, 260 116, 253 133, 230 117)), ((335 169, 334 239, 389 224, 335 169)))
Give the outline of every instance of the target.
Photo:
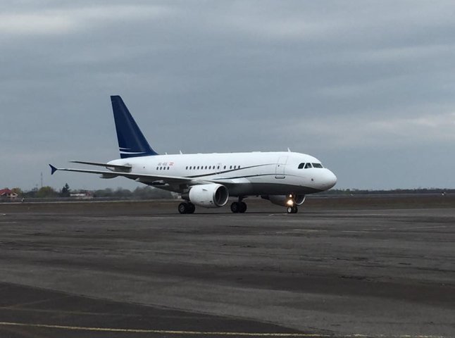
MULTIPOLYGON (((199 336, 244 336, 244 337, 306 337, 306 338, 329 338, 334 337, 333 334, 318 334, 318 333, 269 333, 269 332, 215 332, 215 331, 185 331, 185 330, 147 330, 147 329, 121 329, 114 327, 84 327, 84 326, 68 326, 68 325, 49 325, 35 323, 15 323, 15 322, 0 322, 0 326, 16 326, 16 327, 41 327, 46 329, 61 329, 73 331, 96 331, 96 332, 124 332, 124 333, 156 333, 156 334, 192 334, 199 336)), ((340 338, 445 338, 444 336, 433 335, 412 335, 412 334, 342 334, 335 335, 340 338)))

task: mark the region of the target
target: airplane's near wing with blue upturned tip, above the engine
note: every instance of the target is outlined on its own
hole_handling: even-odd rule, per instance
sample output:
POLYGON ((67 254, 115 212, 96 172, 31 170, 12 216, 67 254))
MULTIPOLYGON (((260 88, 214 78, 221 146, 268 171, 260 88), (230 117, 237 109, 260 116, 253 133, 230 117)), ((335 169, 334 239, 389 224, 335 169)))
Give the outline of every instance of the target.
MULTIPOLYGON (((102 164, 102 163, 100 163, 102 164)), ((220 183, 220 184, 234 184, 230 180, 204 180, 204 179, 194 179, 192 177, 179 177, 179 176, 168 176, 168 175, 148 175, 148 174, 138 174, 138 173, 125 173, 120 171, 110 171, 110 170, 89 170, 89 169, 76 169, 76 168, 56 168, 54 165, 49 164, 51 167, 51 175, 53 175, 57 170, 61 171, 73 171, 75 173, 89 173, 89 174, 99 174, 103 178, 113 178, 117 176, 123 176, 136 180, 137 182, 142 183, 152 183, 156 185, 162 184, 206 184, 206 183, 220 183)), ((109 165, 106 165, 109 166, 109 165)))

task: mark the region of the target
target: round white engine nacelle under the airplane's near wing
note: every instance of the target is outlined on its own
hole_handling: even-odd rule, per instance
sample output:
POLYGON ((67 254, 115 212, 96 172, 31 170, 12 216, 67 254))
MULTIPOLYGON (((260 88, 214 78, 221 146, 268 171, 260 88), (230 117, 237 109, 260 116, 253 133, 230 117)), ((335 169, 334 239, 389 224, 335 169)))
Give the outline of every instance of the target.
POLYGON ((219 208, 228 203, 229 192, 228 188, 221 184, 194 185, 189 189, 188 199, 197 206, 219 208))

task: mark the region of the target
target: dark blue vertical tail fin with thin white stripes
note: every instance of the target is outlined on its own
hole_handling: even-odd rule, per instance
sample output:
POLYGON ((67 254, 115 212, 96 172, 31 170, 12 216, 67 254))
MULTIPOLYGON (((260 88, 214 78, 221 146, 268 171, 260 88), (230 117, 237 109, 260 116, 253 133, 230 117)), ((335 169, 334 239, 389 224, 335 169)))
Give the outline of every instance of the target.
POLYGON ((158 155, 151 149, 149 142, 136 124, 120 96, 111 96, 114 120, 116 121, 120 157, 139 157, 158 155))

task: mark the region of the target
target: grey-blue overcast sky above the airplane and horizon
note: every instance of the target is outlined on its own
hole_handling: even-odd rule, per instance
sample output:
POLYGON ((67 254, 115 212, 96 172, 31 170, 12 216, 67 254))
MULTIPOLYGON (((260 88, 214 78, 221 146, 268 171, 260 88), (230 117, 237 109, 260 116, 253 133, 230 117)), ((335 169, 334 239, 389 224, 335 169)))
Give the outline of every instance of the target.
POLYGON ((119 94, 160 154, 292 151, 338 188, 455 188, 454 1, 2 1, 0 188, 138 186, 119 94))

